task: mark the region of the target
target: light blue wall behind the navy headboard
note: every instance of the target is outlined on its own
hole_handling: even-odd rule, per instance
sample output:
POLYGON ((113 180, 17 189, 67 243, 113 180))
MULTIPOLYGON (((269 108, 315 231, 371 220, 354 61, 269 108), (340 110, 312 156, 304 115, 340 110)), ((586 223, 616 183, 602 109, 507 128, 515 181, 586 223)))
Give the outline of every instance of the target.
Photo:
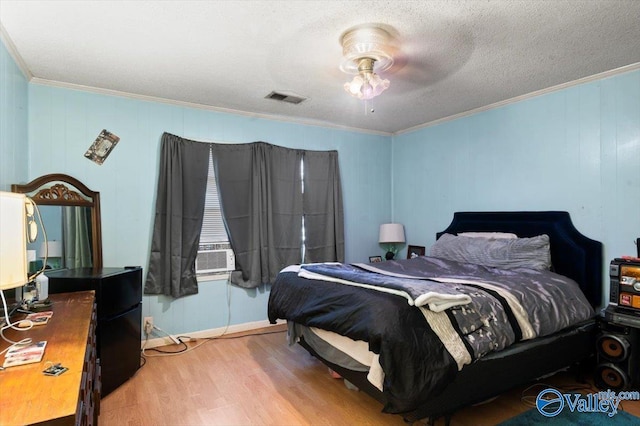
POLYGON ((605 266, 635 255, 640 71, 395 136, 392 173, 409 244, 428 250, 456 211, 566 210, 605 266))

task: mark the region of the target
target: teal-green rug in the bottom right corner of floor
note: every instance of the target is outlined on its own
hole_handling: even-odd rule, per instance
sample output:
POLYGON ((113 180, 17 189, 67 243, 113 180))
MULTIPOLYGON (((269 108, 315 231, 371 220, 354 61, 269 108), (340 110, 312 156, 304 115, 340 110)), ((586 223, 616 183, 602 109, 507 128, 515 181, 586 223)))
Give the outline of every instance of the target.
POLYGON ((640 425, 640 418, 635 417, 625 411, 618 411, 615 416, 609 417, 605 413, 578 413, 571 412, 565 407, 555 417, 545 417, 533 408, 505 422, 500 426, 535 426, 535 425, 575 425, 575 426, 637 426, 640 425))

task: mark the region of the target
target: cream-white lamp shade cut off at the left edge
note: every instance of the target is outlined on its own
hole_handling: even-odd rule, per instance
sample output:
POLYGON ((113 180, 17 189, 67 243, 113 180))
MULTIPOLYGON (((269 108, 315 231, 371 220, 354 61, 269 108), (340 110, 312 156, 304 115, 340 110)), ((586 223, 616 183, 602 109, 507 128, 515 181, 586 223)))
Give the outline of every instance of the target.
POLYGON ((0 192, 0 290, 27 284, 27 222, 24 194, 0 192))

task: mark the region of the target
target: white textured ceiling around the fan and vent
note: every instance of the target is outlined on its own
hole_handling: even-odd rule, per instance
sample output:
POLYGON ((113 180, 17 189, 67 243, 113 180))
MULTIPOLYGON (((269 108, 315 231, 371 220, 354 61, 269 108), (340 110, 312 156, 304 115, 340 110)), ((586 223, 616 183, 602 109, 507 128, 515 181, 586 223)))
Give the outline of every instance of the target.
POLYGON ((0 0, 0 22, 33 81, 385 133, 640 63, 636 0, 0 0), (339 69, 363 23, 400 50, 366 107, 339 69))

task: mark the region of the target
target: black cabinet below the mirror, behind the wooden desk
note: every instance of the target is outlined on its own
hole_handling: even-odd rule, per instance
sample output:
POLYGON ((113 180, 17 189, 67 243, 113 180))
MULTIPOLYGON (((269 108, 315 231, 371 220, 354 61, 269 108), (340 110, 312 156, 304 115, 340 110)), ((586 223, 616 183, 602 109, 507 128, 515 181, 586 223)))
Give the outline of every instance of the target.
POLYGON ((142 268, 78 268, 46 273, 49 293, 95 290, 102 396, 140 368, 142 268))

